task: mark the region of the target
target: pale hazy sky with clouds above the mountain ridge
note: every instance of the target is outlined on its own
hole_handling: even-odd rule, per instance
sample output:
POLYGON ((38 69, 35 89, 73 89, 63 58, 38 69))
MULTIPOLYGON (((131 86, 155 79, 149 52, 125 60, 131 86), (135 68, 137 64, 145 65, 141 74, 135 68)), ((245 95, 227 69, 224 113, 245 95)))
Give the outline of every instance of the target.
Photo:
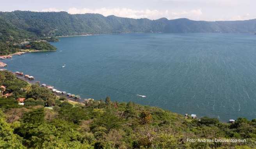
POLYGON ((248 20, 256 18, 256 0, 0 0, 0 11, 67 11, 128 18, 248 20))

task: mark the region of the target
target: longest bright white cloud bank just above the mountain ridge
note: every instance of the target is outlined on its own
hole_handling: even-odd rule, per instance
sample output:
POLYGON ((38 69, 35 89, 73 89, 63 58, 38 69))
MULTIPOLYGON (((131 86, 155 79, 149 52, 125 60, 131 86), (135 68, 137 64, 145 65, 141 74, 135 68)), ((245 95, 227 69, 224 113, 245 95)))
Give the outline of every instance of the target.
POLYGON ((175 19, 175 18, 190 18, 190 19, 197 19, 199 16, 203 14, 201 9, 194 9, 190 11, 181 11, 181 12, 172 12, 169 10, 159 11, 159 10, 134 10, 128 8, 114 8, 114 9, 107 9, 107 8, 100 8, 100 9, 77 9, 75 7, 68 9, 68 13, 70 14, 85 14, 85 13, 98 13, 102 14, 103 16, 115 15, 119 17, 126 17, 126 18, 149 18, 149 19, 159 19, 159 18, 168 18, 168 19, 175 19))

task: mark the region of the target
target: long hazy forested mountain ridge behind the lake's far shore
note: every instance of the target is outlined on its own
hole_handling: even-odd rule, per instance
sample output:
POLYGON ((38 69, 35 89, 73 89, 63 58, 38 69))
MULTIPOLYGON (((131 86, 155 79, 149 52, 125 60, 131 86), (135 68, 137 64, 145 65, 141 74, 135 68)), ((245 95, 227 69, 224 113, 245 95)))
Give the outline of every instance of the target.
POLYGON ((0 12, 0 40, 82 34, 133 32, 255 33, 256 19, 245 21, 193 21, 131 19, 101 14, 67 12, 0 12))

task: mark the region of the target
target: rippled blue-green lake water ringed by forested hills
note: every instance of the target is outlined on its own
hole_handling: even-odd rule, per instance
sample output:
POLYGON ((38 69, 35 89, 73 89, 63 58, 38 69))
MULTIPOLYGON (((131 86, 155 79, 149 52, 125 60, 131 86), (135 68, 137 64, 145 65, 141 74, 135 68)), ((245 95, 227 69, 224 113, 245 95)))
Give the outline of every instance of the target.
POLYGON ((58 51, 4 60, 7 69, 82 98, 110 96, 221 121, 256 118, 256 35, 94 35, 52 44, 58 51))

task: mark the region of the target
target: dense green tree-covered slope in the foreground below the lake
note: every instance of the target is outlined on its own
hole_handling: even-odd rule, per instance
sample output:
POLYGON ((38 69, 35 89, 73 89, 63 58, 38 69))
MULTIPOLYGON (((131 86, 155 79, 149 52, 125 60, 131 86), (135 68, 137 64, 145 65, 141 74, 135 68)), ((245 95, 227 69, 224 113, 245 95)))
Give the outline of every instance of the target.
POLYGON ((234 124, 182 115, 135 103, 89 100, 71 104, 50 90, 0 72, 0 148, 75 149, 249 149, 256 147, 256 119, 234 124), (18 105, 17 98, 26 98, 18 105), (53 108, 47 108, 50 106, 53 108), (242 143, 187 142, 194 139, 246 139, 242 143))

